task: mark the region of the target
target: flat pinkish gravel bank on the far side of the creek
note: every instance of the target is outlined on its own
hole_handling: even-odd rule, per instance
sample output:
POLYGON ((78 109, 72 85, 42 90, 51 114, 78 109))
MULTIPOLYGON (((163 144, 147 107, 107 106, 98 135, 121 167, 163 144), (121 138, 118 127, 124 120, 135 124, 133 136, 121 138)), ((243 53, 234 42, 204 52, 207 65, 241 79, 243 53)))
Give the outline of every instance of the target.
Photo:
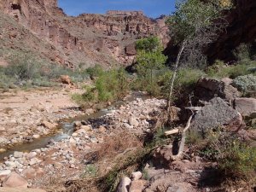
POLYGON ((0 151, 8 145, 49 135, 56 130, 60 119, 84 114, 70 96, 80 91, 66 87, 1 93, 0 151))

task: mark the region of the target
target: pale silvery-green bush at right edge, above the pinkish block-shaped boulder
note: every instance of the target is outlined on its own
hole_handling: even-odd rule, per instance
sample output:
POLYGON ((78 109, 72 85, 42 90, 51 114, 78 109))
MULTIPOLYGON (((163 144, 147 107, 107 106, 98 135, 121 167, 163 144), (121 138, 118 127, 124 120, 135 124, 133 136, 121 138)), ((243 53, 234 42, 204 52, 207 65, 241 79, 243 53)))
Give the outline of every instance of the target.
POLYGON ((242 92, 256 91, 256 76, 253 74, 239 76, 233 80, 232 84, 242 92))

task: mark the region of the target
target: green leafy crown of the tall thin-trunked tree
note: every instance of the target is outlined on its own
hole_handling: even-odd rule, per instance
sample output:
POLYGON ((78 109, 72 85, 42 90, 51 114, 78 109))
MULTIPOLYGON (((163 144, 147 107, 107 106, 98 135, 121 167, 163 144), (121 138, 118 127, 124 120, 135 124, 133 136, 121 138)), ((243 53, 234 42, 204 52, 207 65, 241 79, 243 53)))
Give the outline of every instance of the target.
POLYGON ((167 21, 172 32, 172 38, 180 44, 184 40, 193 39, 201 29, 212 26, 212 20, 220 16, 221 7, 212 3, 204 3, 201 0, 179 0, 176 9, 167 21))

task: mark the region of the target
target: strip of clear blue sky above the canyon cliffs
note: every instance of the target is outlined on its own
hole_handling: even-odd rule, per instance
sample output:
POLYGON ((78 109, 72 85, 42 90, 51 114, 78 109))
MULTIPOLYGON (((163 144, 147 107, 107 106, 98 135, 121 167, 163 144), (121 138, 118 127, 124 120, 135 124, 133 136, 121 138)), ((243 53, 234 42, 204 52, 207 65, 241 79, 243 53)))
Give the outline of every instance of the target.
POLYGON ((175 0, 58 0, 67 15, 104 14, 107 10, 143 10, 145 15, 156 18, 170 15, 175 0))

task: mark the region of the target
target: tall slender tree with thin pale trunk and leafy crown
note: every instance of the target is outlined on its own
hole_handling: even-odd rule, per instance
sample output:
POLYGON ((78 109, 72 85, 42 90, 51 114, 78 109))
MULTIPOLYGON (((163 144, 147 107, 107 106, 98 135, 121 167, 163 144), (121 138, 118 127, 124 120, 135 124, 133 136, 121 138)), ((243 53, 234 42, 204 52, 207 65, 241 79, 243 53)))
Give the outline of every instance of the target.
POLYGON ((166 20, 173 42, 179 46, 171 79, 168 108, 171 107, 173 86, 180 61, 187 61, 188 64, 196 66, 201 64, 204 60, 202 49, 212 43, 226 26, 221 14, 223 9, 226 7, 216 0, 207 3, 201 0, 179 0, 176 3, 176 12, 166 20))

